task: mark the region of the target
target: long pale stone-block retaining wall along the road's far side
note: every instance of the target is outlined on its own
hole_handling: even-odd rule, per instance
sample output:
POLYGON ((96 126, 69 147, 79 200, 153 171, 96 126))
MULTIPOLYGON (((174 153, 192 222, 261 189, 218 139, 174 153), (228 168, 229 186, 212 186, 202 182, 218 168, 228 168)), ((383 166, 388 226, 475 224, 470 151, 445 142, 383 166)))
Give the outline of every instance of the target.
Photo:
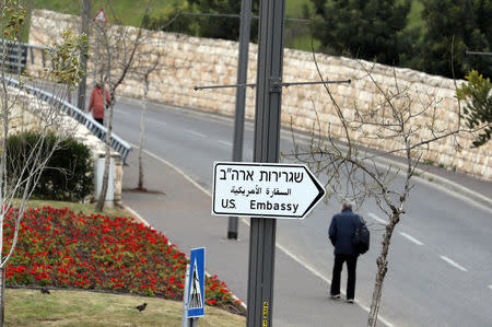
MULTIPOLYGON (((30 33, 30 43, 48 46, 61 34, 62 28, 80 26, 77 16, 54 13, 49 11, 34 11, 30 33)), ((119 27, 121 28, 121 27, 119 27)), ((128 27, 130 35, 136 35, 136 28, 128 27)), ((145 45, 140 50, 152 50, 148 59, 161 54, 163 66, 151 74, 149 98, 176 106, 191 107, 200 110, 216 112, 233 115, 235 107, 235 89, 215 89, 195 91, 195 85, 235 84, 237 71, 237 49, 235 42, 222 39, 197 38, 175 33, 149 32, 144 33, 145 45)), ((93 49, 95 47, 92 47, 93 49)), ((249 46, 248 82, 256 81, 257 46, 249 46)), ((418 113, 426 104, 433 108, 425 115, 412 118, 413 126, 422 127, 413 132, 415 140, 431 137, 424 127, 434 118, 436 129, 452 130, 457 126, 457 102, 455 98, 454 81, 441 77, 430 75, 410 69, 393 69, 383 65, 358 61, 343 57, 332 57, 316 54, 317 67, 313 54, 285 49, 283 82, 319 81, 318 70, 325 80, 347 80, 352 83, 333 84, 329 86, 333 98, 340 105, 345 117, 354 116, 354 105, 367 113, 367 109, 382 102, 382 94, 374 81, 384 92, 395 92, 396 87, 406 89, 406 93, 413 100, 411 112, 418 113), (371 71, 371 77, 367 74, 371 71), (433 100, 430 103, 430 100, 433 100), (415 121, 417 120, 417 121, 415 121)), ((37 61, 37 68, 40 62, 37 61)), ((33 71, 36 70, 36 65, 33 71)), ((93 63, 90 62, 91 70, 93 63)), ((89 72, 89 78, 92 73, 89 72)), ((91 83, 91 80, 89 80, 91 83)), ((118 92, 125 96, 141 97, 142 82, 134 75, 126 78, 118 92)), ((255 90, 248 87, 246 101, 246 117, 254 118, 255 90)), ((342 125, 330 98, 321 85, 303 85, 284 87, 282 91, 282 124, 290 122, 301 130, 311 130, 319 117, 321 132, 335 138, 343 137, 342 125)), ((364 130, 350 131, 352 138, 362 144, 384 151, 401 148, 397 140, 382 140, 367 138, 376 135, 375 127, 365 126, 364 130)), ((492 144, 479 150, 471 150, 471 136, 462 135, 458 139, 447 138, 433 142, 423 151, 423 160, 473 175, 487 180, 492 179, 492 144), (456 152, 455 141, 462 145, 456 152)), ((397 153, 398 154, 398 153, 397 153)))

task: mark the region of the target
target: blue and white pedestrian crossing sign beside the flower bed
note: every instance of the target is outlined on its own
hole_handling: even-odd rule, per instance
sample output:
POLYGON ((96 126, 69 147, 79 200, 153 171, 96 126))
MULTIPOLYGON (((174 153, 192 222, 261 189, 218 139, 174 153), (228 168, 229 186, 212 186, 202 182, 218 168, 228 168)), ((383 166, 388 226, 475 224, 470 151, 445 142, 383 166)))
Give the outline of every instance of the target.
POLYGON ((191 249, 187 296, 187 317, 202 317, 204 315, 204 247, 191 249))

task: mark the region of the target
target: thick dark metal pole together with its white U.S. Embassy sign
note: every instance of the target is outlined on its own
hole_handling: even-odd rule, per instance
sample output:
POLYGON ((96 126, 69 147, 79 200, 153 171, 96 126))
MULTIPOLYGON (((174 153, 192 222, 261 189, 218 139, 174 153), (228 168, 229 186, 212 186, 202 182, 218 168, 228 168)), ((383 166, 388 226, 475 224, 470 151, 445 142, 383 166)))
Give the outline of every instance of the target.
MULTIPOLYGON (((257 87, 254 161, 261 164, 241 170, 235 166, 237 177, 233 172, 234 163, 216 163, 214 166, 212 212, 251 215, 246 318, 248 327, 272 325, 277 220, 271 218, 304 218, 325 194, 305 166, 265 164, 278 163, 280 154, 284 22, 285 0, 260 1, 258 70, 257 82, 254 84, 257 87), (304 179, 311 182, 305 184, 302 182, 304 179), (283 184, 278 185, 279 182, 283 184), (308 196, 303 197, 301 189, 306 190, 308 196)), ((195 90, 202 89, 204 87, 195 86, 195 90)))

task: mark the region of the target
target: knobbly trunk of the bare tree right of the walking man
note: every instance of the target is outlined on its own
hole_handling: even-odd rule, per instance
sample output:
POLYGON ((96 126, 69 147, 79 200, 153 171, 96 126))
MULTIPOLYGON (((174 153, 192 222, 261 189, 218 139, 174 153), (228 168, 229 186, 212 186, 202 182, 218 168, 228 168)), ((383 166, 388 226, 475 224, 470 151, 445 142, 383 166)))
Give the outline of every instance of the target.
POLYGON ((373 291, 373 300, 371 303, 371 311, 368 315, 367 326, 375 327, 377 324, 377 315, 379 314, 379 305, 380 305, 380 295, 383 293, 383 281, 385 280, 386 272, 388 271, 388 252, 389 244, 391 243, 393 231, 395 230, 396 224, 400 221, 400 214, 394 213, 389 220, 388 225, 386 226, 386 232, 383 235, 383 248, 377 257, 377 273, 376 273, 376 283, 374 285, 373 291))

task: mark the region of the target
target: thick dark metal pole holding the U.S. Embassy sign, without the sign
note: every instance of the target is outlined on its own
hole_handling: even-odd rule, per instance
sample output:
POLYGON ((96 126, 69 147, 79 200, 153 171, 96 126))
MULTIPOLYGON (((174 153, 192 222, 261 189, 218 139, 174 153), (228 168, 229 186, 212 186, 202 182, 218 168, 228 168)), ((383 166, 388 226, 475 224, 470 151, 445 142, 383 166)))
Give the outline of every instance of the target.
MULTIPOLYGON (((255 162, 279 161, 285 0, 261 0, 255 115, 255 162)), ((273 308, 274 219, 251 218, 247 326, 270 327, 273 308)))

